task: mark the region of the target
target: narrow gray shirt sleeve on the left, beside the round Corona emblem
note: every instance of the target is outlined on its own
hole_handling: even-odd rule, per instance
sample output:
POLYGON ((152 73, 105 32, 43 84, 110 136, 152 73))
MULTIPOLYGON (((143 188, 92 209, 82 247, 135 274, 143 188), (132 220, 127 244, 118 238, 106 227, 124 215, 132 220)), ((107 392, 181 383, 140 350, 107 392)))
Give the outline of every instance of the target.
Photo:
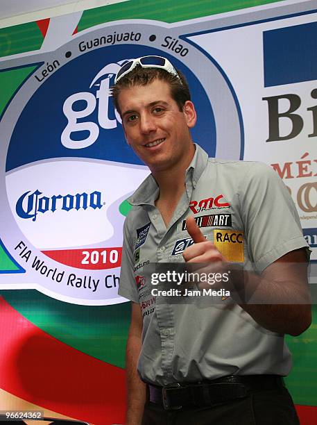
POLYGON ((126 217, 123 225, 123 247, 118 293, 121 295, 121 297, 130 299, 130 301, 134 301, 135 303, 139 303, 139 294, 137 292, 137 284, 135 282, 134 275, 132 240, 130 238, 128 227, 128 217, 126 217))

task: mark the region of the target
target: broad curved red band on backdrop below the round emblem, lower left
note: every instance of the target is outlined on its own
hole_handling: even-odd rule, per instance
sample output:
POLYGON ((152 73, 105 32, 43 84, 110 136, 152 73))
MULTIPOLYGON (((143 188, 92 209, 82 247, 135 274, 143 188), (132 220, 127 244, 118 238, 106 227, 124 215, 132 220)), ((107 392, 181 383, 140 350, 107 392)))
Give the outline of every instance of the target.
MULTIPOLYGON (((0 310, 3 390, 97 425, 123 423, 126 399, 123 369, 56 340, 28 322, 2 297, 0 310)), ((0 406, 0 409, 8 407, 0 406)))

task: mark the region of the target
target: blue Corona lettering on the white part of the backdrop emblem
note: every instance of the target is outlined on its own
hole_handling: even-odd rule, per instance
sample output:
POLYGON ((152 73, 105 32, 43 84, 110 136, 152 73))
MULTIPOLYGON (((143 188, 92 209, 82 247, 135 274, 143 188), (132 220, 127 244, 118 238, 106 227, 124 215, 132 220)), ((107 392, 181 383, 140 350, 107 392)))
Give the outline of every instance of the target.
POLYGON ((15 210, 17 215, 23 219, 32 219, 35 222, 38 213, 46 213, 51 211, 54 213, 56 210, 79 210, 83 208, 86 210, 88 207, 102 208, 101 192, 95 191, 91 194, 77 193, 76 195, 66 194, 64 196, 58 194, 52 197, 41 197, 42 192, 35 190, 32 194, 31 190, 22 194, 17 200, 15 210))

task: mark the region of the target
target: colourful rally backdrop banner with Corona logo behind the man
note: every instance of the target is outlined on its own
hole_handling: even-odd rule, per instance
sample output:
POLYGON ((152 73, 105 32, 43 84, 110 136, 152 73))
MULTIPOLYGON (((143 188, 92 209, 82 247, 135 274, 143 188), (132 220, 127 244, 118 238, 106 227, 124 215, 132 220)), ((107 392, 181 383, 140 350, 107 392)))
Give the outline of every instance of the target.
MULTIPOLYGON (((27 401, 46 416, 124 420, 122 228, 127 199, 149 174, 112 105, 114 76, 130 58, 165 56, 185 74, 198 113, 193 140, 209 156, 273 167, 317 264, 316 1, 169 3, 144 10, 130 0, 0 30, 0 410, 27 401)), ((283 226, 283 212, 271 220, 283 226)), ((140 247, 148 227, 137 232, 140 247)), ((135 269, 143 265, 136 255, 135 269)), ((302 390, 316 371, 307 357, 315 328, 305 335, 289 340, 293 392, 316 405, 317 383, 302 390)))

